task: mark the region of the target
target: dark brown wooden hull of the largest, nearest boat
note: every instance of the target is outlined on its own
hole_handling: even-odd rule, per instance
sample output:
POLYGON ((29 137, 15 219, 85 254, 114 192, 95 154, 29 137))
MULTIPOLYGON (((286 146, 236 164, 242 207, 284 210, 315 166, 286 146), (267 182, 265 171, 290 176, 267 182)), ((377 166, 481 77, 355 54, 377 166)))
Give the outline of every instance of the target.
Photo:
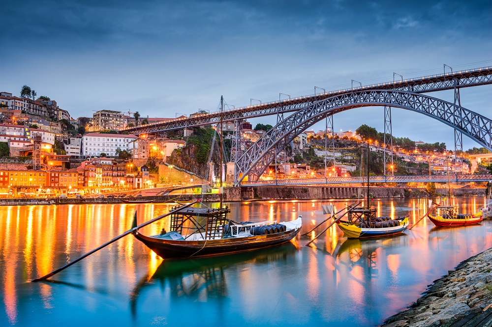
POLYGON ((301 227, 298 227, 270 235, 206 241, 163 240, 142 235, 138 231, 133 233, 133 236, 162 259, 170 259, 220 255, 279 245, 295 238, 300 230, 301 227))

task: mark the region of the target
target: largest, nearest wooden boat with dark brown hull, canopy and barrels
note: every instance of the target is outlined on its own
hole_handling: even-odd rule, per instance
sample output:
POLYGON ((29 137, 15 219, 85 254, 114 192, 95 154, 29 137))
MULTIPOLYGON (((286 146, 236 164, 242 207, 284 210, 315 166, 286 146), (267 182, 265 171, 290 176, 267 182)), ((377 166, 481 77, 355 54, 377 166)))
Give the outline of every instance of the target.
POLYGON ((163 230, 159 235, 145 236, 136 230, 132 234, 161 258, 168 259, 219 255, 279 245, 295 238, 302 227, 301 217, 279 224, 275 221, 238 223, 226 218, 229 212, 227 207, 188 207, 171 216, 170 232, 163 230), (279 227, 270 227, 278 225, 284 226, 283 231, 279 227), (261 230, 263 232, 260 233, 261 230))

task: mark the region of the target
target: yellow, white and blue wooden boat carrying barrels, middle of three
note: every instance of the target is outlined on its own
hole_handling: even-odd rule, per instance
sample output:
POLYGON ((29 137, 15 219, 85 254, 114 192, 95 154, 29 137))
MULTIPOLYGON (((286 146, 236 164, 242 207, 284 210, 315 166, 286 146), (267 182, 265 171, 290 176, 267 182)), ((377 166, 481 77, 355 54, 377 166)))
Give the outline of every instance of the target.
POLYGON ((408 227, 408 216, 398 219, 376 217, 376 209, 353 208, 348 220, 337 221, 338 227, 349 239, 391 236, 402 233, 408 227))

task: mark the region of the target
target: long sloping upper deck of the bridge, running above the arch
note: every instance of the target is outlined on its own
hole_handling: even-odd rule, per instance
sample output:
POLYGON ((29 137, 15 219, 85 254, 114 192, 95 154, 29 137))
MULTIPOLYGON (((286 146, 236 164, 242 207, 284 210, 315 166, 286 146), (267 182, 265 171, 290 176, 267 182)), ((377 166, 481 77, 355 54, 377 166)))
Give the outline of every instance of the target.
MULTIPOLYGON (((477 68, 468 71, 433 75, 428 77, 379 83, 369 86, 355 87, 351 89, 325 92, 312 96, 304 96, 294 99, 275 101, 272 103, 259 104, 243 108, 223 111, 224 121, 234 121, 238 119, 247 119, 261 116, 276 115, 279 113, 293 112, 303 109, 323 99, 332 98, 336 95, 359 92, 369 89, 391 89, 400 91, 410 91, 414 93, 426 93, 434 91, 449 90, 455 88, 458 82, 458 88, 492 84, 492 67, 477 68)), ((158 133, 170 130, 184 129, 186 127, 196 127, 213 125, 220 121, 220 112, 199 114, 192 118, 177 118, 167 122, 148 124, 145 126, 127 128, 120 133, 128 132, 130 134, 147 134, 158 133)))

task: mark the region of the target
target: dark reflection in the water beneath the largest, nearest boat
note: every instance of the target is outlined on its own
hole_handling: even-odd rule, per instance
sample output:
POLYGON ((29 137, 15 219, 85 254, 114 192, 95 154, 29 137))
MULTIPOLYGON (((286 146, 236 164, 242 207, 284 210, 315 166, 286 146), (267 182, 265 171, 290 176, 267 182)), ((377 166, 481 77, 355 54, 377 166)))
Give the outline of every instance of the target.
POLYGON ((152 275, 147 275, 140 280, 130 294, 130 307, 134 317, 137 315, 138 297, 145 293, 146 289, 155 284, 161 291, 169 290, 170 298, 185 298, 186 300, 206 301, 210 298, 227 297, 228 287, 225 271, 233 266, 268 265, 273 262, 285 262, 289 257, 294 257, 297 251, 296 245, 288 242, 258 250, 209 256, 193 259, 167 259, 163 260, 152 275))

